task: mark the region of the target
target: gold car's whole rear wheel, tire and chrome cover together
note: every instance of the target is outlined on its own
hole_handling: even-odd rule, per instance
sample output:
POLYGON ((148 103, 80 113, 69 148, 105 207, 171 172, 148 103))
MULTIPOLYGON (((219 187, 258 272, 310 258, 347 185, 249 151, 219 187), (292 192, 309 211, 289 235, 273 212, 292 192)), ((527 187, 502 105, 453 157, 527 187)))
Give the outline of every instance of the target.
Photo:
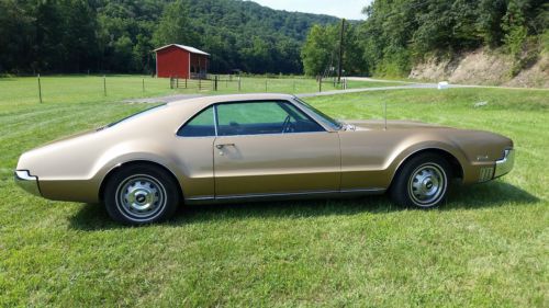
POLYGON ((160 168, 134 164, 122 168, 109 180, 104 201, 116 221, 145 225, 173 215, 179 203, 178 183, 160 168))

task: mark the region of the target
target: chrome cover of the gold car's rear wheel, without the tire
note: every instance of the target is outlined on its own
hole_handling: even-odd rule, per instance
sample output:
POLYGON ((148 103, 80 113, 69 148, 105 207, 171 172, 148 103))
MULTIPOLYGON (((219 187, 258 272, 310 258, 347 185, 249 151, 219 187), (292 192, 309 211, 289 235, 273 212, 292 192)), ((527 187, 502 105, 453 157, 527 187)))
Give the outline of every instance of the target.
POLYGON ((135 221, 158 217, 166 202, 164 185, 147 174, 132 175, 116 187, 116 207, 122 215, 135 221))

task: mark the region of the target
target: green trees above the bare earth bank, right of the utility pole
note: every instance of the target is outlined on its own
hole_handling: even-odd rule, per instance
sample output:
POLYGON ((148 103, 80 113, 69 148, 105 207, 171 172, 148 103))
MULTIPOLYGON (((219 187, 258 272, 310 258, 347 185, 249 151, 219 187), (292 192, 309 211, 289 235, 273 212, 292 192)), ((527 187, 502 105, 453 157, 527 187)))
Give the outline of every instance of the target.
POLYGON ((505 46, 519 57, 527 37, 549 24, 542 0, 376 0, 365 8, 360 44, 378 75, 410 72, 425 55, 505 46))

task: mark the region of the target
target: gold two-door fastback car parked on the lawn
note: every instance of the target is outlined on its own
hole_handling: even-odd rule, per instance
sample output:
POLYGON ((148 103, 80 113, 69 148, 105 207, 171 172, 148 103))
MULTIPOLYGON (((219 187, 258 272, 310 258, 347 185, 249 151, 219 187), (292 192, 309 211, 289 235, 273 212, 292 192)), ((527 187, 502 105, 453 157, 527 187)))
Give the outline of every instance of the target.
POLYGON ((513 141, 404 121, 338 122, 285 94, 206 96, 155 106, 23 153, 15 181, 49 199, 104 202, 149 224, 180 203, 381 194, 439 205, 452 179, 511 171, 513 141))

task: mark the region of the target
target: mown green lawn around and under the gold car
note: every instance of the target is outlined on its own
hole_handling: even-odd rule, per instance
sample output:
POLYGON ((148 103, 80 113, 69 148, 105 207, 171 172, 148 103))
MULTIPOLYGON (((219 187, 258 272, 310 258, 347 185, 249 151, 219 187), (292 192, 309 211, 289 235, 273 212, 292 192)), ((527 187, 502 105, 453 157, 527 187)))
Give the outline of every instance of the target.
MULTIPOLYGON (((511 174, 455 186, 436 210, 384 196, 192 206, 166 224, 126 228, 100 205, 41 199, 13 183, 21 152, 148 107, 116 102, 142 95, 130 89, 141 91, 141 78, 107 98, 77 91, 80 80, 60 89, 61 79, 42 105, 32 81, 0 79, 0 307, 549 305, 549 91, 306 100, 339 118, 380 118, 386 102, 389 118, 514 139, 511 174)), ((172 93, 164 87, 146 94, 172 93)))

